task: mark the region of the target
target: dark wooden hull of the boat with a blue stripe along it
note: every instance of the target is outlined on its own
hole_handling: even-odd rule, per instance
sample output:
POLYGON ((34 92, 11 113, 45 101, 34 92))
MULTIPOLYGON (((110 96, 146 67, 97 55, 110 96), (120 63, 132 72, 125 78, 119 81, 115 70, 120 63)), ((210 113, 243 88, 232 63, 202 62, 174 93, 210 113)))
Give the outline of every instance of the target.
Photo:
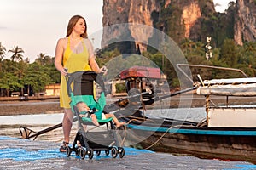
POLYGON ((207 127, 172 119, 137 115, 120 117, 128 123, 125 144, 130 146, 256 164, 256 127, 207 127))

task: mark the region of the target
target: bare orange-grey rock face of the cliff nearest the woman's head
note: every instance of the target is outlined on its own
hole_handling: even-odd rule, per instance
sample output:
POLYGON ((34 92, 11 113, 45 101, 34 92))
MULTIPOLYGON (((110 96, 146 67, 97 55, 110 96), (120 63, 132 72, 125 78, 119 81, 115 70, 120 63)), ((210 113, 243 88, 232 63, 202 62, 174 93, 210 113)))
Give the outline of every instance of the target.
MULTIPOLYGON (((131 37, 135 40, 140 39, 142 42, 148 43, 148 37, 152 36, 152 29, 136 29, 133 26, 121 24, 135 23, 153 26, 151 13, 154 10, 160 10, 157 0, 103 0, 102 47, 111 42, 113 38, 126 35, 126 38, 129 39, 127 33, 131 33, 131 37)), ((138 45, 141 50, 145 50, 146 46, 143 43, 136 42, 136 47, 138 45)))

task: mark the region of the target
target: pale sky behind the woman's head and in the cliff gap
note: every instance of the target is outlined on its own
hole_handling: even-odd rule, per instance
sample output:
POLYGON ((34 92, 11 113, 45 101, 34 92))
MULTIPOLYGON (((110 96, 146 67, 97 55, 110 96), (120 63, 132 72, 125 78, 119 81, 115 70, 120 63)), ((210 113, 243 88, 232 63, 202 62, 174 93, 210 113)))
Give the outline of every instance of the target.
MULTIPOLYGON (((213 0, 223 12, 231 0, 213 0)), ((0 0, 0 42, 7 51, 22 48, 30 62, 38 54, 55 56, 55 45, 66 36, 68 20, 74 14, 84 16, 90 40, 100 48, 103 0, 0 0)), ((9 59, 10 53, 6 53, 9 59)))

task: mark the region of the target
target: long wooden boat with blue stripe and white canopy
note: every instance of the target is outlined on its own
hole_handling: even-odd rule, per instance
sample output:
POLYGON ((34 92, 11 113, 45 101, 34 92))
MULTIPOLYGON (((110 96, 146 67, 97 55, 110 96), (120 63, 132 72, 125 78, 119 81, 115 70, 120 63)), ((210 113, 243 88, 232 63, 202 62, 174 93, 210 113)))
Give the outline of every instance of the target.
POLYGON ((201 122, 143 116, 140 110, 117 111, 119 120, 127 123, 125 144, 178 155, 256 164, 256 107, 232 105, 229 101, 229 96, 256 96, 256 78, 204 81, 197 94, 206 98, 207 116, 201 122), (214 104, 212 96, 225 96, 226 104, 214 104))

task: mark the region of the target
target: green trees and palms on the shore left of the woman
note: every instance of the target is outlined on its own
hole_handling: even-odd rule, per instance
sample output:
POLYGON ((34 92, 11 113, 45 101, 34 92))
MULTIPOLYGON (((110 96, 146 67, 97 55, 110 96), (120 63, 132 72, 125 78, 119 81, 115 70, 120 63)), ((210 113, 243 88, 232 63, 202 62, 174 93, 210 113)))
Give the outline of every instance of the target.
POLYGON ((0 42, 0 96, 10 96, 11 92, 32 95, 43 92, 46 85, 60 82, 53 57, 40 53, 29 63, 23 54, 22 48, 14 46, 7 51, 0 42), (4 59, 7 52, 12 53, 10 59, 4 59))

